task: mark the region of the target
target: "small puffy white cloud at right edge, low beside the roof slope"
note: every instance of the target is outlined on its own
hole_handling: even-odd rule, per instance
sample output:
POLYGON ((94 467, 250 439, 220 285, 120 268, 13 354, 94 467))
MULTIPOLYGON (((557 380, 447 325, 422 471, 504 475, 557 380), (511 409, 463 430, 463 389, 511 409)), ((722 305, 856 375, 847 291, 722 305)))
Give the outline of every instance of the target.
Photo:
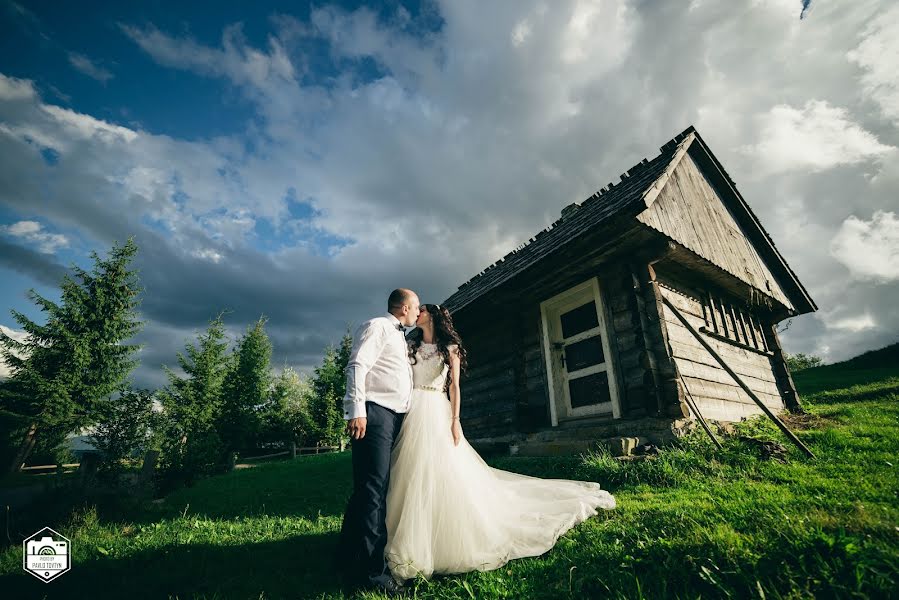
POLYGON ((899 218, 882 210, 869 221, 848 217, 831 241, 830 253, 856 279, 899 279, 899 218))

